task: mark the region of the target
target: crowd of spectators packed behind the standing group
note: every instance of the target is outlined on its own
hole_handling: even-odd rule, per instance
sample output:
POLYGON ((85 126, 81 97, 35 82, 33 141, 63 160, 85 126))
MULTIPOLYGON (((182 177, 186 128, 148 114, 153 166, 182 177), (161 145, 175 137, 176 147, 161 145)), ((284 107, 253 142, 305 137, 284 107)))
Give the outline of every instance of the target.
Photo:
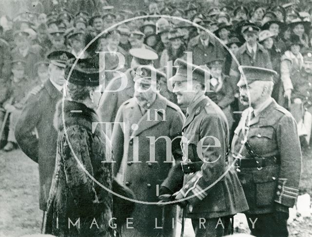
MULTIPOLYGON (((49 78, 46 59, 49 52, 64 50, 79 58, 98 57, 99 51, 112 52, 105 55, 106 69, 117 67, 115 52, 120 52, 125 56, 120 70, 125 72, 131 67, 133 55, 129 50, 133 48, 155 51, 158 59, 154 60, 154 66, 165 73, 168 62, 186 60, 186 52, 192 52, 193 64, 210 69, 213 79, 207 95, 223 109, 232 131, 240 118, 239 111, 244 109, 236 86, 240 77, 238 64, 275 70, 278 75, 274 77, 273 98, 292 111, 302 145, 309 146, 312 8, 293 3, 246 7, 164 0, 144 1, 139 6, 134 8, 130 3, 115 6, 105 0, 35 0, 27 11, 14 18, 1 16, 1 120, 6 112, 11 113, 6 151, 16 147, 14 126, 29 94, 34 93, 34 88, 39 90, 49 78), (154 17, 144 17, 147 15, 154 17), (155 15, 179 17, 188 22, 155 15), (118 24, 135 17, 141 18, 118 24), (117 26, 83 50, 114 24, 117 26)), ((118 74, 107 72, 105 76, 108 85, 118 74)), ((163 77, 163 86, 166 85, 167 78, 163 77)), ((175 96, 166 88, 161 93, 176 103, 175 96)))

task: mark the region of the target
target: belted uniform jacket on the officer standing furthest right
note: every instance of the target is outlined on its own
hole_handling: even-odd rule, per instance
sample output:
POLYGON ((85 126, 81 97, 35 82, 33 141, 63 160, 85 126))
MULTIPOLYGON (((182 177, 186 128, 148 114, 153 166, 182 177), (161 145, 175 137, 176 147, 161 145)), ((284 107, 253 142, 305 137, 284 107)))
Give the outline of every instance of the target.
MULTIPOLYGON (((253 159, 243 145, 245 121, 248 109, 244 110, 234 131, 232 154, 253 159), (242 148, 243 146, 243 148, 242 148)), ((277 157, 280 165, 270 165, 262 170, 240 169, 238 177, 244 188, 250 210, 249 214, 265 214, 274 211, 274 202, 293 207, 299 193, 301 151, 297 125, 291 113, 274 100, 251 120, 247 141, 254 151, 262 156, 277 157)))

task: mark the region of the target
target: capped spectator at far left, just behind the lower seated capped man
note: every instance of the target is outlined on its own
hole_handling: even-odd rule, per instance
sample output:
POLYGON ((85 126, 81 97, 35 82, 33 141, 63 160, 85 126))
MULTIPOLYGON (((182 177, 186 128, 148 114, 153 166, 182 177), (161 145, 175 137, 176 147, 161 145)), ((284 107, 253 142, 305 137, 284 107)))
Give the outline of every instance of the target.
POLYGON ((15 32, 14 41, 17 46, 12 49, 11 57, 24 60, 26 62, 25 76, 30 79, 35 78, 36 72, 33 65, 41 60, 42 48, 39 45, 31 45, 29 33, 25 31, 15 32))

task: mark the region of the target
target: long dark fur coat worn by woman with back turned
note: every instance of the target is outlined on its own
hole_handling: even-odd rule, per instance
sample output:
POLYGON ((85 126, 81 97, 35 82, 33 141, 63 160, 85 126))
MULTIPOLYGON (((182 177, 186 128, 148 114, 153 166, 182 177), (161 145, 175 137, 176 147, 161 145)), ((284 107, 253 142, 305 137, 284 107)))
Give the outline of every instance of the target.
POLYGON ((59 136, 56 169, 48 200, 47 234, 102 237, 112 231, 109 220, 112 218, 113 196, 90 177, 112 190, 112 163, 102 163, 112 161, 112 156, 106 153, 108 140, 101 127, 97 126, 93 131, 97 122, 96 112, 84 104, 65 100, 63 111, 61 103, 57 105, 55 127, 59 136), (80 225, 68 228, 69 218, 73 223, 79 218, 80 225))

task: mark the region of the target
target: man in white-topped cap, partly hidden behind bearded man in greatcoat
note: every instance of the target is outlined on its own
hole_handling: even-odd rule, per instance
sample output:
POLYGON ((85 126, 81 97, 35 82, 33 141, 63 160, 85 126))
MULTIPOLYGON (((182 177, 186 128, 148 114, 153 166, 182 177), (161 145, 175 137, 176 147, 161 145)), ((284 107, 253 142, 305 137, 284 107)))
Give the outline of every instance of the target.
POLYGON ((132 56, 131 65, 124 75, 113 78, 106 86, 99 103, 101 122, 112 123, 115 121, 120 105, 134 95, 135 71, 140 65, 153 65, 158 55, 149 49, 132 48, 129 50, 132 56))

